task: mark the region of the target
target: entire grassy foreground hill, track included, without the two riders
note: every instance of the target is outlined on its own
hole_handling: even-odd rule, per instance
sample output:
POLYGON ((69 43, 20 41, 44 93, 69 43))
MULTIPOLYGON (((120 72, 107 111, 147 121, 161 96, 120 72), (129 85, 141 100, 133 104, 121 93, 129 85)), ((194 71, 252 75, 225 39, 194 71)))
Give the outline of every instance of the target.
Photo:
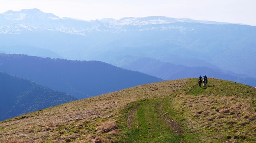
POLYGON ((256 142, 256 88, 163 81, 0 122, 0 142, 256 142))

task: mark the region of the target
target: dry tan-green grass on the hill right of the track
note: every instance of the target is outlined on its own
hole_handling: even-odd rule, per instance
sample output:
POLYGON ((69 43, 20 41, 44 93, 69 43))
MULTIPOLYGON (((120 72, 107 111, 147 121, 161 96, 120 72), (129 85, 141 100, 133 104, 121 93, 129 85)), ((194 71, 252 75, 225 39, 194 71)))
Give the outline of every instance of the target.
POLYGON ((221 82, 223 87, 220 81, 211 79, 204 94, 176 96, 174 110, 189 130, 201 134, 201 141, 256 141, 255 88, 227 81, 221 82))

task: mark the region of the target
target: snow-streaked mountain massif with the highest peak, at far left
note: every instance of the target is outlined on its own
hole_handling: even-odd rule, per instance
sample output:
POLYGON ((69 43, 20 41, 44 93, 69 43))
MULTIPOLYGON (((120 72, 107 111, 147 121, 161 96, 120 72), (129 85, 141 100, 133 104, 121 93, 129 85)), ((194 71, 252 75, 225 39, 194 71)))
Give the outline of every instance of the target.
POLYGON ((27 30, 29 31, 45 29, 83 35, 85 32, 90 31, 106 31, 106 28, 111 28, 111 26, 99 20, 84 21, 59 18, 51 13, 43 13, 39 9, 6 11, 0 14, 0 33, 19 34, 19 31, 23 31, 24 28, 28 28, 27 30))

